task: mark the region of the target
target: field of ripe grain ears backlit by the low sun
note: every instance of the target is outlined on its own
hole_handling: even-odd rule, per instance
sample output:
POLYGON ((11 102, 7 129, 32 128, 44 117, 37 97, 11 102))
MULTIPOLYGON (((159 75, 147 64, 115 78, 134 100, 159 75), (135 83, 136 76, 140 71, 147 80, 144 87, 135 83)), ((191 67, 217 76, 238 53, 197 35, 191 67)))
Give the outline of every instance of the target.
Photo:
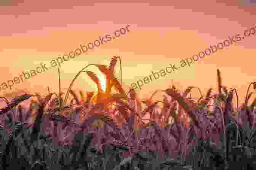
MULTIPOLYGON (((198 87, 174 85, 141 100, 122 88, 114 68, 90 64, 65 93, 25 93, 0 110, 0 169, 14 170, 253 170, 256 169, 256 82, 248 84, 243 104, 236 89, 222 85, 203 95, 198 87), (102 82, 89 66, 106 76, 102 82), (87 74, 96 92, 72 90, 87 74), (104 88, 103 88, 104 87, 104 88), (198 90, 201 98, 189 96, 198 90), (115 92, 113 92, 115 91, 115 92), (157 93, 162 101, 152 100, 157 93), (236 101, 234 103, 234 101, 236 101), (21 105, 30 101, 29 107, 21 105), (27 109, 28 108, 28 109, 27 109), (210 109, 213 108, 213 109, 210 109), (149 115, 149 118, 145 118, 149 115)), ((59 69, 58 69, 59 71, 59 69)))

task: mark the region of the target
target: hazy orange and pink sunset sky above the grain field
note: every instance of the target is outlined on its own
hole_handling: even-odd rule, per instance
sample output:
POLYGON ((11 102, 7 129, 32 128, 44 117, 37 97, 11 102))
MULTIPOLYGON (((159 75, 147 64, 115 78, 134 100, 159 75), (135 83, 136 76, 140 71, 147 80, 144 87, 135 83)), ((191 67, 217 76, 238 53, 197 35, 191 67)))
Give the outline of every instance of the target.
MULTIPOLYGON (((127 91, 131 83, 149 76, 152 70, 179 63, 229 36, 242 35, 244 30, 256 27, 256 3, 250 4, 248 0, 230 3, 219 0, 97 1, 13 0, 13 6, 0 6, 0 83, 19 76, 22 71, 36 69, 40 63, 48 64, 79 48, 80 43, 93 42, 98 36, 130 25, 129 33, 65 61, 60 68, 61 87, 68 88, 75 74, 87 64, 109 64, 110 58, 120 55, 123 87, 127 91)), ((217 90, 216 69, 219 68, 223 84, 237 88, 243 100, 249 83, 256 81, 255 42, 256 35, 246 37, 190 67, 153 80, 138 93, 146 98, 154 90, 168 88, 173 79, 178 88, 194 85, 205 94, 209 88, 217 90)), ((120 78, 119 66, 116 72, 120 78)), ((93 67, 88 70, 98 73, 93 67)), ((37 74, 0 94, 24 88, 31 93, 46 94, 47 86, 51 91, 58 91, 57 68, 37 74)), ((86 74, 75 82, 74 89, 96 90, 86 74)), ((193 90, 192 96, 198 96, 198 92, 193 90)))

